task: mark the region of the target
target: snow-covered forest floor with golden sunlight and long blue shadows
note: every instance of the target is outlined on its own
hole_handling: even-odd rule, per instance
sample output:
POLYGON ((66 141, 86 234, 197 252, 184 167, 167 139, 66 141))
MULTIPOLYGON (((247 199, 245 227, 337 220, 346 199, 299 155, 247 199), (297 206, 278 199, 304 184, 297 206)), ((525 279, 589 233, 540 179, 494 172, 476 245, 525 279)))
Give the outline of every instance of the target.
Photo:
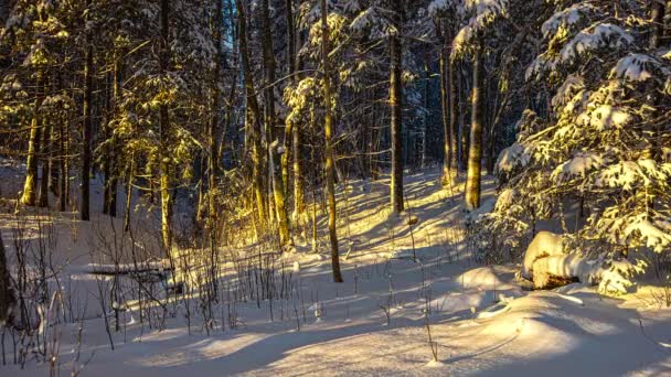
MULTIPOLYGON (((312 254, 309 243, 298 243, 283 259, 296 266, 292 279, 302 300, 241 303, 236 328, 222 328, 221 322, 227 323, 222 314, 210 334, 195 315, 189 328, 179 305, 161 331, 125 312, 123 331, 111 334, 114 351, 88 266, 104 259, 92 239, 110 227, 116 234, 120 222, 100 215, 90 224, 72 214, 55 217, 62 284, 78 292, 81 302, 73 308, 85 312, 81 347, 79 323, 57 326, 61 375, 71 374, 77 354, 79 364, 87 363, 82 375, 96 377, 671 375, 671 310, 658 309, 643 290, 619 298, 581 284, 525 291, 514 277, 519 266, 478 266, 462 240, 462 187, 441 188, 438 174, 429 170, 406 177, 409 209, 401 217, 386 209, 388 180, 339 186, 343 283, 331 282, 326 246, 312 254)), ((493 195, 487 181, 486 208, 493 195)), ((0 215, 10 255, 13 217, 0 215)), ((226 305, 219 304, 220 311, 226 305)), ((0 375, 49 373, 47 365, 30 360, 19 369, 0 367, 0 375)))

